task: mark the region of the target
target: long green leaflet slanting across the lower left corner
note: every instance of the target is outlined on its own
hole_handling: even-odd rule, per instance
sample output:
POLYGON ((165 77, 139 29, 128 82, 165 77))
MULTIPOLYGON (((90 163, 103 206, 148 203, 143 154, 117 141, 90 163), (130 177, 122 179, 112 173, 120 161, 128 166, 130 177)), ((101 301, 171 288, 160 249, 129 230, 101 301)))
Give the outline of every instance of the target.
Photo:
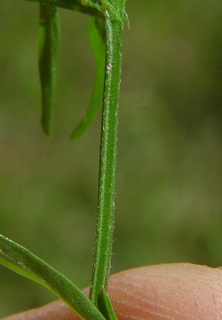
POLYGON ((105 320, 90 299, 63 274, 3 235, 0 235, 0 263, 56 294, 81 319, 105 320))

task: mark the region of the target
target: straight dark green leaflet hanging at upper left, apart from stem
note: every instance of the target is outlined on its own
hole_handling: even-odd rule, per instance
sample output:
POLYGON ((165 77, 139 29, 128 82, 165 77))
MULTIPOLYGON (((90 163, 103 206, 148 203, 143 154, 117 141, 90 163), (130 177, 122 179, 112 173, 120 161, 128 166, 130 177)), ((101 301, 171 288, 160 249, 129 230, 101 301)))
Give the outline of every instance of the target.
POLYGON ((40 4, 39 33, 38 67, 42 90, 42 125, 46 134, 51 135, 53 97, 60 48, 60 19, 56 6, 40 4))

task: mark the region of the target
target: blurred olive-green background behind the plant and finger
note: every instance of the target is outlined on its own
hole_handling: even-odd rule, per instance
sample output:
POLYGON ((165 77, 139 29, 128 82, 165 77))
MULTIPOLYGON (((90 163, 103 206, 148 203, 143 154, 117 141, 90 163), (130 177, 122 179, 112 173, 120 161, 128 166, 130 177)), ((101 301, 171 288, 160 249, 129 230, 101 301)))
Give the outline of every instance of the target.
MULTIPOLYGON (((127 1, 112 272, 222 265, 221 0, 127 1)), ((90 99, 88 17, 61 10, 53 138, 44 136, 38 5, 0 0, 0 233, 75 284, 90 283, 100 117, 68 136, 90 99)), ((55 297, 0 267, 0 316, 55 297)))

